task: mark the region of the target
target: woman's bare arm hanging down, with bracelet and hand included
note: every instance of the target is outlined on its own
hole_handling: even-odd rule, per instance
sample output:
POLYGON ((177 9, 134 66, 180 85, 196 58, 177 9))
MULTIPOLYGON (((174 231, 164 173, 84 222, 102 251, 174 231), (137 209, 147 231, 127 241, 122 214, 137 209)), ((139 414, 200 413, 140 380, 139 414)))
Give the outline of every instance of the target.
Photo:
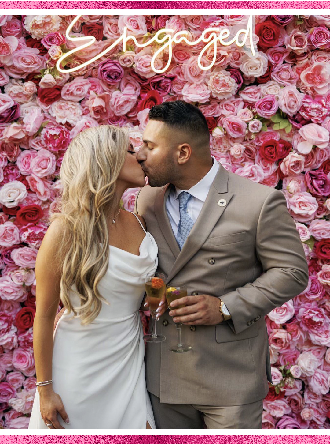
MULTIPOLYGON (((53 325, 59 304, 61 266, 55 260, 58 242, 62 236, 61 222, 50 224, 39 248, 35 263, 36 312, 33 324, 33 349, 37 381, 52 379, 53 325)), ((54 428, 63 428, 57 419, 57 412, 67 422, 68 417, 62 400, 53 391, 52 384, 38 386, 40 412, 46 423, 54 428)))

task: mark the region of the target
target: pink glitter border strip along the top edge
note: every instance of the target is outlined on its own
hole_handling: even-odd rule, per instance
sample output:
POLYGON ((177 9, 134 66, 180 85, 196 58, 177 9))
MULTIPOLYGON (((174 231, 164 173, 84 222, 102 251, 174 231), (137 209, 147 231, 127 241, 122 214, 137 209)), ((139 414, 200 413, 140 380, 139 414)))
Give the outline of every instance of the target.
POLYGON ((2 0, 1 9, 328 9, 318 0, 2 0))

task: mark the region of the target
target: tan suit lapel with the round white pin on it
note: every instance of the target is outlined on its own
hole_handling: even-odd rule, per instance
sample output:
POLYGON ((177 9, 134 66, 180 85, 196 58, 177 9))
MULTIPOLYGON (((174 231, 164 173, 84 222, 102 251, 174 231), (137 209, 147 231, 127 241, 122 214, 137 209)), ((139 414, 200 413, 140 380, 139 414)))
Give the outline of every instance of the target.
MULTIPOLYGON (((202 210, 198 215, 194 226, 192 227, 189 236, 186 238, 182 250, 179 249, 178 243, 173 235, 174 242, 178 247, 179 254, 176 254, 175 263, 171 269, 169 276, 167 277, 167 282, 169 282, 179 271, 186 265, 186 263, 198 252, 203 243, 209 237, 210 232, 214 228, 215 224, 221 217, 221 214, 225 211, 233 193, 228 192, 228 171, 219 163, 219 170, 214 178, 212 185, 210 186, 209 193, 207 194, 206 201, 202 206, 202 210), (225 206, 220 206, 219 201, 221 199, 226 200, 225 206)), ((157 213, 156 213, 157 215, 157 213)), ((163 216, 162 216, 163 217, 163 216)), ((167 219, 168 221, 168 219, 167 219)), ((159 222, 159 221, 158 221, 159 222)), ((160 222, 159 222, 160 223, 160 222)), ((171 228, 170 223, 168 225, 171 228)), ((173 251, 173 250, 172 250, 173 251)))

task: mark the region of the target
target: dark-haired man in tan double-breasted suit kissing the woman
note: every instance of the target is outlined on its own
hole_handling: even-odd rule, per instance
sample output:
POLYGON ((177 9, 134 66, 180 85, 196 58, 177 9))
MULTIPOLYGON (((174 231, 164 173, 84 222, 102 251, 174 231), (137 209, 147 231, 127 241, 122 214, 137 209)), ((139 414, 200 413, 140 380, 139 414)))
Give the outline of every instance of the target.
POLYGON ((137 159, 149 185, 134 212, 157 242, 157 271, 167 283, 186 283, 189 295, 158 322, 166 341, 146 345, 156 426, 261 428, 272 382, 264 316, 308 283, 286 200, 210 155, 206 119, 194 105, 151 108, 143 142, 137 159), (172 353, 180 321, 192 349, 172 353))

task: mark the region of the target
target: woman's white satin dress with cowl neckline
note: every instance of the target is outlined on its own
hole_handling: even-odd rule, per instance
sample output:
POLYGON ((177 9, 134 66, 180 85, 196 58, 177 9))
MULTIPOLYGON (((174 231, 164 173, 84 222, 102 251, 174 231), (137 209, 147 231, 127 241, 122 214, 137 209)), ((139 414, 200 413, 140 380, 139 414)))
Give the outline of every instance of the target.
MULTIPOLYGON (((155 428, 144 376, 139 308, 145 275, 158 266, 158 248, 149 232, 140 256, 109 248, 108 270, 98 285, 109 305, 102 303, 97 318, 85 326, 65 311, 54 331, 53 388, 70 424, 59 414, 58 420, 64 428, 146 428, 147 420, 155 428)), ((77 295, 71 295, 78 303, 77 295)), ((29 428, 48 428, 40 414, 38 390, 29 428)))

